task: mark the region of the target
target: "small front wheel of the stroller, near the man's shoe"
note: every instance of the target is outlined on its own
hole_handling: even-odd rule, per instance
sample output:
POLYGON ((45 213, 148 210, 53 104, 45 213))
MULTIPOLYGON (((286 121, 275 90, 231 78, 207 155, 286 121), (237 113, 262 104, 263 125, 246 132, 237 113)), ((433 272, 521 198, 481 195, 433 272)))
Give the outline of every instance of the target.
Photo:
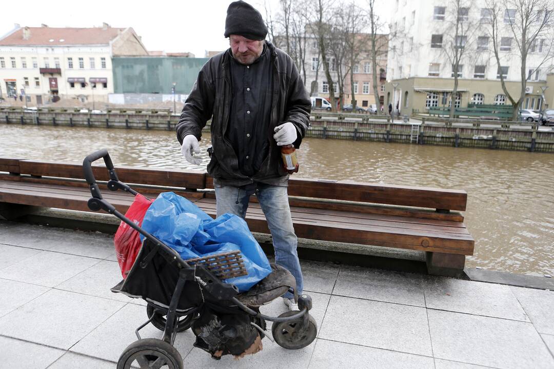
MULTIPOLYGON (((298 311, 287 311, 279 315, 279 318, 298 314, 298 311)), ((271 327, 271 334, 277 344, 285 349, 302 349, 311 344, 317 335, 317 323, 313 316, 309 316, 308 326, 304 333, 300 333, 304 319, 298 318, 285 322, 274 322, 271 327)))

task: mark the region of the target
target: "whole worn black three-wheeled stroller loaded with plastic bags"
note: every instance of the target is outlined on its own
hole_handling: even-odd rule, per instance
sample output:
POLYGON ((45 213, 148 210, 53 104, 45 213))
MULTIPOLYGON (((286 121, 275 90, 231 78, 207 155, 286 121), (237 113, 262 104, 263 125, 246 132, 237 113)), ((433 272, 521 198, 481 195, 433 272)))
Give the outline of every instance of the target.
POLYGON ((213 358, 223 355, 242 357, 261 350, 266 336, 266 321, 273 321, 271 335, 285 349, 301 349, 314 341, 317 324, 309 314, 309 295, 296 293, 294 277, 285 268, 271 264, 271 273, 247 292, 239 293, 234 284, 222 280, 244 276, 247 271, 240 252, 224 252, 207 257, 183 260, 179 254, 156 237, 129 220, 102 198, 91 164, 104 159, 110 180, 107 188, 137 191, 122 183, 106 149, 83 160, 86 182, 92 197, 88 206, 104 210, 140 232, 145 238, 126 278, 111 290, 147 302, 148 320, 135 330, 138 338, 121 354, 117 369, 168 367, 182 369, 183 360, 173 347, 178 332, 192 328, 194 346, 209 352, 213 358), (286 292, 294 294, 299 311, 287 311, 278 317, 260 313, 260 306, 286 292), (162 339, 141 339, 139 330, 148 323, 163 331, 162 339))

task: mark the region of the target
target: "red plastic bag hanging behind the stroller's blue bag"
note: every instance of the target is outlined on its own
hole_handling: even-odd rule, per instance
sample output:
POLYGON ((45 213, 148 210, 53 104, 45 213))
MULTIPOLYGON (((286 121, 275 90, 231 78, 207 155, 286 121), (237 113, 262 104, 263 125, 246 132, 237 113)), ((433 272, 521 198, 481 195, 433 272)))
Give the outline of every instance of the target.
MULTIPOLYGON (((125 213, 125 216, 140 227, 142 225, 142 219, 150 204, 152 204, 152 200, 145 198, 141 194, 137 194, 129 210, 125 213)), ((115 233, 114 245, 117 262, 121 269, 121 275, 125 279, 135 262, 137 254, 139 254, 141 246, 140 233, 122 221, 115 233)))

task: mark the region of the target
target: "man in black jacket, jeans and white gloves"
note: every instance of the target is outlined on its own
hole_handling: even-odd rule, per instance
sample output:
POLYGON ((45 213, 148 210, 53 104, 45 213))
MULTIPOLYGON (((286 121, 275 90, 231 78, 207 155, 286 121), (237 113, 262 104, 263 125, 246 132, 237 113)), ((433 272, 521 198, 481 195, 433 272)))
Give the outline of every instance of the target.
MULTIPOLYGON (((214 178, 217 216, 245 217, 256 194, 273 238, 275 262, 288 269, 302 292, 296 235, 290 216, 280 147, 298 148, 310 122, 311 102, 289 55, 264 41, 268 33, 261 14, 236 1, 227 9, 225 37, 230 49, 202 67, 177 123, 181 152, 193 164, 201 160, 198 141, 212 118, 208 173, 214 178), (212 117, 213 115, 213 117, 212 117)), ((283 295, 290 310, 297 305, 283 295)))

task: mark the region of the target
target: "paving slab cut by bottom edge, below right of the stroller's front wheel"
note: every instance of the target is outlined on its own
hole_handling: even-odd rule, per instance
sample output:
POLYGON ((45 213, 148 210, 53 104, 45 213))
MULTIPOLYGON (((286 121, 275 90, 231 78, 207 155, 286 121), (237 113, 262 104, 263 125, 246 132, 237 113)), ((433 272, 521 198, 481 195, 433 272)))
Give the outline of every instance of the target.
POLYGON ((433 358, 318 339, 309 369, 434 369, 433 358))

